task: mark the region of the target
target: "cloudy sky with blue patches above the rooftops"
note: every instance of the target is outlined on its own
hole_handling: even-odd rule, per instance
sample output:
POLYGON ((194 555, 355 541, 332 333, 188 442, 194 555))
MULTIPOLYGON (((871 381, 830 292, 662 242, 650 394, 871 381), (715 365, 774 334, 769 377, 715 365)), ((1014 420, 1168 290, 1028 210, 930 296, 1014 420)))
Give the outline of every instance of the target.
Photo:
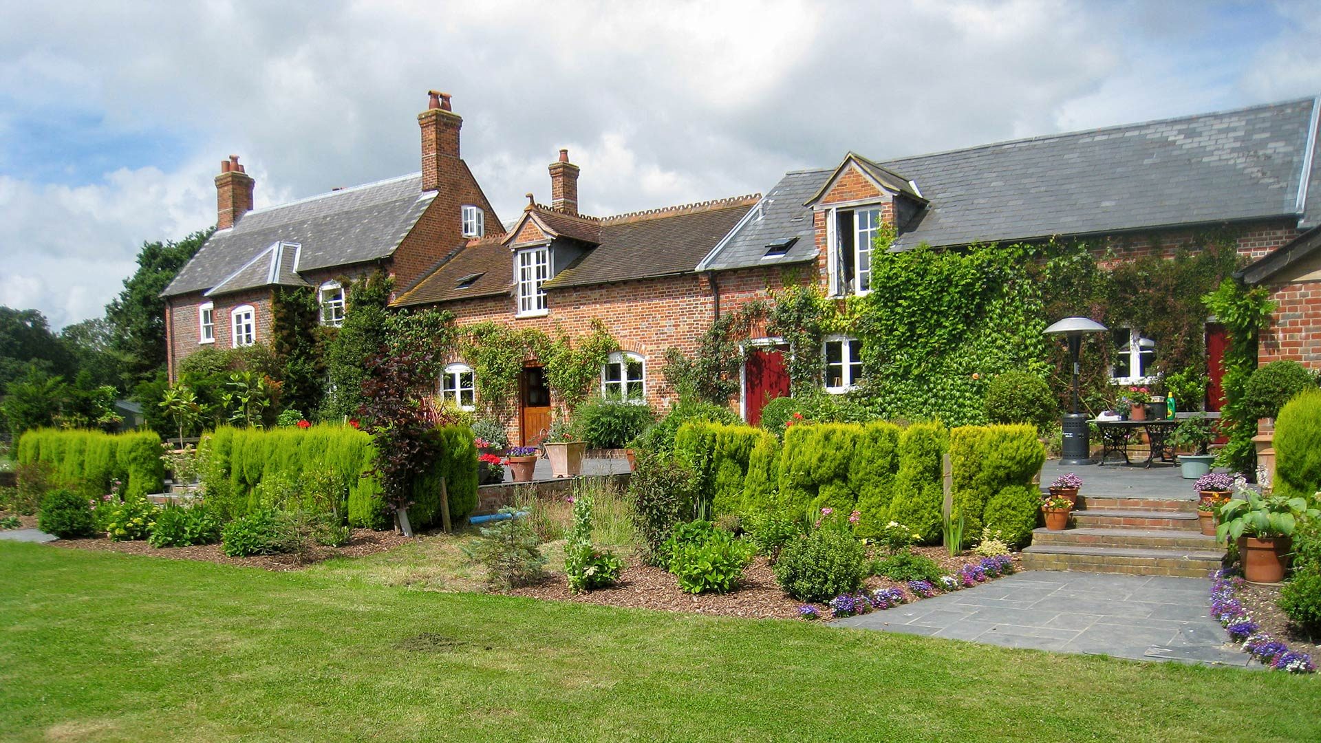
POLYGON ((258 206, 416 171, 428 89, 503 219, 560 147, 610 214, 1321 94, 1321 0, 284 5, 0 0, 0 304, 99 316, 230 153, 258 206))

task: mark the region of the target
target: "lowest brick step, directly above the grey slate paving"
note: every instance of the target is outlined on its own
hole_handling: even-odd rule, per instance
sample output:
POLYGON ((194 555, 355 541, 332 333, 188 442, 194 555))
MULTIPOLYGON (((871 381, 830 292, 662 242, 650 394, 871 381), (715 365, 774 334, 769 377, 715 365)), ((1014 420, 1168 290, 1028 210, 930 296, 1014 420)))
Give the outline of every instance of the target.
POLYGON ((1222 558, 1223 551, 1213 550, 1032 545, 1022 550, 1022 567, 1206 578, 1221 567, 1222 558))

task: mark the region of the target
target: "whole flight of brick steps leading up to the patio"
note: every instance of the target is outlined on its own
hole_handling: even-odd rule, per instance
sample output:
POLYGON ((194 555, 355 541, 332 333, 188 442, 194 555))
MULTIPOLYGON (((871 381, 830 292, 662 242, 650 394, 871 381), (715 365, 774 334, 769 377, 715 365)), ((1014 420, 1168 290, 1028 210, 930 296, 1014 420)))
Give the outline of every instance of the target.
POLYGON ((1022 567, 1206 578, 1223 557, 1201 533, 1197 501, 1096 497, 1082 498, 1070 529, 1036 529, 1022 567))

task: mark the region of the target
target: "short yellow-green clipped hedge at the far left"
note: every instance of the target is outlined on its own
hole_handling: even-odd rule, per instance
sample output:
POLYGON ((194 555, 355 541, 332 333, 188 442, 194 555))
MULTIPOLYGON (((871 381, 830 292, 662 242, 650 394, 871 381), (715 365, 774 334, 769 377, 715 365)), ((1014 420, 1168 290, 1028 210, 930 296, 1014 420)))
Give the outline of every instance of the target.
POLYGON ((114 480, 123 484, 125 497, 159 493, 165 488, 161 438, 152 431, 104 434, 33 428, 18 439, 18 461, 45 461, 57 480, 81 483, 102 494, 110 492, 114 480))

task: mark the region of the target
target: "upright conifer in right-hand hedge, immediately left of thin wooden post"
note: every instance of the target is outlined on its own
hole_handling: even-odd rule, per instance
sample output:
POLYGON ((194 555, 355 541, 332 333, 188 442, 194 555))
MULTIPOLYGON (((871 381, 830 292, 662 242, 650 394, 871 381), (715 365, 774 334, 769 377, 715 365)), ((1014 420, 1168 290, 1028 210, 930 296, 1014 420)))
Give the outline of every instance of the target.
POLYGON ((888 521, 898 521, 922 535, 923 542, 941 537, 945 451, 950 435, 939 423, 914 423, 900 436, 900 471, 888 521))

